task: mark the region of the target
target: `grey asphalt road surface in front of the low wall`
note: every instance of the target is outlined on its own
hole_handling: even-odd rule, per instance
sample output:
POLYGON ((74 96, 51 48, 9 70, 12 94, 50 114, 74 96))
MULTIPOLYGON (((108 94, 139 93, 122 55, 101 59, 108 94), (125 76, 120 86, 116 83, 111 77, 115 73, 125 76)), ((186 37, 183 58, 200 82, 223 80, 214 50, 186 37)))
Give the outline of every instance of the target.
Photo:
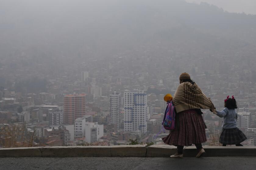
POLYGON ((254 170, 256 157, 0 158, 1 170, 254 170))

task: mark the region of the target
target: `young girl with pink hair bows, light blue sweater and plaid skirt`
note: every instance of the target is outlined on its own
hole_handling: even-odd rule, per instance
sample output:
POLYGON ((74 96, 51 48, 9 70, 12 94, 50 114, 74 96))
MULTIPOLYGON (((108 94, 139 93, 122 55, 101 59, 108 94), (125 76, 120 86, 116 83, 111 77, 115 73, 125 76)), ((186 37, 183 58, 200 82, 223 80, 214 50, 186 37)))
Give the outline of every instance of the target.
POLYGON ((236 99, 234 96, 229 98, 229 96, 224 100, 224 109, 222 111, 216 110, 216 115, 223 118, 222 124, 222 132, 219 138, 219 142, 222 146, 226 146, 227 144, 235 144, 236 146, 243 146, 240 144, 245 141, 247 138, 240 129, 237 128, 236 120, 237 120, 237 105, 236 99))

